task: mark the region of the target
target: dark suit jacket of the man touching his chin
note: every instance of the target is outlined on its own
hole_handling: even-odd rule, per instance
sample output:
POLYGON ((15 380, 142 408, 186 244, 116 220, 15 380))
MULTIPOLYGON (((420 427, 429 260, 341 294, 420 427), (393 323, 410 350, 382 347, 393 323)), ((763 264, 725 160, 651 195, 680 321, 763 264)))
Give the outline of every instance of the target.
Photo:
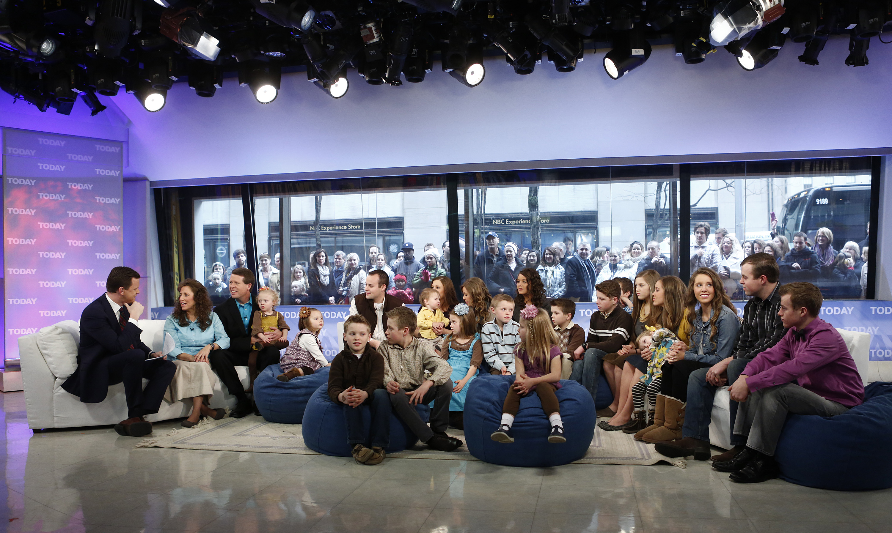
POLYGON ((80 397, 82 402, 92 404, 103 401, 109 386, 120 383, 110 382, 104 360, 128 351, 131 345, 143 350, 146 356, 149 355, 152 349, 139 340, 142 332, 136 324, 129 321, 123 331, 120 329, 120 322, 115 318, 104 293, 90 302, 80 315, 78 368, 62 383, 62 389, 80 397))

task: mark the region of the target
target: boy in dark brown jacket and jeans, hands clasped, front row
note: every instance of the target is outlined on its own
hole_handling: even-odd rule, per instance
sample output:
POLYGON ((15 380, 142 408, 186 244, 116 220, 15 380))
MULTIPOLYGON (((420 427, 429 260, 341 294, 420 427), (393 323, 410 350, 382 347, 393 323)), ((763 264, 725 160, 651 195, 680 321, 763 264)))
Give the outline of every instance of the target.
POLYGON ((368 344, 371 334, 372 327, 365 317, 348 316, 343 323, 347 348, 335 356, 328 373, 328 398, 344 406, 353 458, 369 465, 384 461, 384 448, 390 444, 391 414, 390 395, 384 389, 384 357, 368 344), (372 411, 371 435, 362 424, 359 406, 364 405, 372 411))

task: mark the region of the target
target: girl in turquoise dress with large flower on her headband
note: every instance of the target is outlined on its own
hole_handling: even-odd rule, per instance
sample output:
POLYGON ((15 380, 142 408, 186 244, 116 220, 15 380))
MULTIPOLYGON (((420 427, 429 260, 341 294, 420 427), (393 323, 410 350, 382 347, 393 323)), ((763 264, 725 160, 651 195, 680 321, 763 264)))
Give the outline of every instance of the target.
POLYGON ((483 348, 480 333, 477 333, 477 319, 467 304, 458 304, 449 314, 452 333, 443 343, 442 357, 452 367, 451 380, 455 383, 450 400, 450 426, 465 429, 465 398, 467 386, 477 375, 483 363, 483 348))

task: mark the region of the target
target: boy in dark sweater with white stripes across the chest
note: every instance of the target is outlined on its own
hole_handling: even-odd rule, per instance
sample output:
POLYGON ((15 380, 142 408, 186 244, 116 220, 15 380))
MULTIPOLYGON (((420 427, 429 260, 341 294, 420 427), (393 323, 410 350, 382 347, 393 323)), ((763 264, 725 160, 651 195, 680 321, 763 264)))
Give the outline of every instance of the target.
MULTIPOLYGON (((591 314, 585 353, 578 359, 574 357, 570 379, 578 381, 588 389, 593 400, 598 396, 598 381, 604 356, 622 348, 629 341, 634 328, 632 315, 626 313, 619 305, 622 293, 616 280, 607 280, 595 286, 598 312, 591 314)), ((598 415, 607 416, 607 413, 598 415)))

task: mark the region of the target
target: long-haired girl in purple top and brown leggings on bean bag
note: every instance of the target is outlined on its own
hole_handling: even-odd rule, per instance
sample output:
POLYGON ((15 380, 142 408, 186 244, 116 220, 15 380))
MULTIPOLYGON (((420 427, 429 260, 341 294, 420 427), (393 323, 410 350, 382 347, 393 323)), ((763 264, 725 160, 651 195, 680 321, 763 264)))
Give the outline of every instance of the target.
POLYGON ((558 397, 555 396, 555 390, 560 389, 561 351, 549 313, 532 304, 524 307, 520 312, 518 333, 520 342, 514 352, 516 379, 508 388, 499 429, 490 438, 496 442, 514 442, 511 424, 520 407, 520 398, 535 390, 542 402, 542 410, 549 417, 549 442, 566 442, 564 422, 561 422, 558 397))

